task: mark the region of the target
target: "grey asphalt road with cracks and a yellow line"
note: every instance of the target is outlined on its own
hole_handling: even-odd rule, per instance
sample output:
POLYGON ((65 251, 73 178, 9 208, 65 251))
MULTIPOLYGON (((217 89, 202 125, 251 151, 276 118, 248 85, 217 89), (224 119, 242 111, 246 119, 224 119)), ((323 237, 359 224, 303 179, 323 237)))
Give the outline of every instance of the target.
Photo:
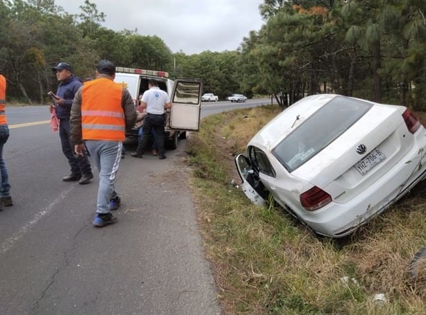
MULTIPOLYGON (((201 116, 268 100, 203 103, 201 116)), ((185 141, 166 160, 126 155, 117 224, 94 228, 98 179, 69 167, 46 106, 8 107, 3 156, 14 205, 0 212, 0 314, 221 314, 188 189, 185 141)))

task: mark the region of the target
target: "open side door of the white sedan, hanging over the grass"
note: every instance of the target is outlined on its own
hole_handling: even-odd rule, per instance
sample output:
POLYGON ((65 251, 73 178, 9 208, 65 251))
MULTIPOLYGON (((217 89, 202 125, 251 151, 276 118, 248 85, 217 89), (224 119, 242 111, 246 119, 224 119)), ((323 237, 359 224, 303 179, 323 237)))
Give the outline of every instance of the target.
POLYGON ((259 173, 253 168, 250 160, 244 154, 238 154, 235 157, 235 165, 241 177, 241 188, 244 194, 254 204, 259 206, 266 205, 265 199, 259 194, 258 191, 264 190, 262 181, 259 179, 259 173))

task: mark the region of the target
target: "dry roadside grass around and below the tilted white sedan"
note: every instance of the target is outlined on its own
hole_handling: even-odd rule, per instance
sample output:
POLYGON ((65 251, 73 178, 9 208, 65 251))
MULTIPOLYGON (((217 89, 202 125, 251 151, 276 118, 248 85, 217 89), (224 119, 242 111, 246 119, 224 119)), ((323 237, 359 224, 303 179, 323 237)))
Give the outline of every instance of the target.
POLYGON ((426 245, 426 183, 344 240, 317 238, 231 185, 234 155, 279 111, 210 116, 189 138, 191 189, 225 314, 426 314, 426 267, 417 278, 407 272, 426 245), (379 293, 385 303, 373 300, 379 293))

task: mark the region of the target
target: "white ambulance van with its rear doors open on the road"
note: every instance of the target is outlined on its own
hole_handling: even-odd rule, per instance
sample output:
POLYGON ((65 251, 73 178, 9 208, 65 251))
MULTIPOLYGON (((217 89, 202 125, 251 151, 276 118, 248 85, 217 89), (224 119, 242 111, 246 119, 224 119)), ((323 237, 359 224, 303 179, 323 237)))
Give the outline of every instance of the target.
MULTIPOLYGON (((179 139, 186 138, 187 131, 198 131, 200 127, 201 91, 203 82, 201 79, 169 79, 169 73, 145 69, 123 68, 115 69, 117 83, 123 84, 130 92, 135 106, 138 105, 139 95, 148 89, 148 81, 154 78, 158 87, 166 91, 171 100, 171 109, 167 110, 167 124, 165 145, 176 149, 179 139)), ((137 138, 138 128, 126 132, 126 138, 137 138)))

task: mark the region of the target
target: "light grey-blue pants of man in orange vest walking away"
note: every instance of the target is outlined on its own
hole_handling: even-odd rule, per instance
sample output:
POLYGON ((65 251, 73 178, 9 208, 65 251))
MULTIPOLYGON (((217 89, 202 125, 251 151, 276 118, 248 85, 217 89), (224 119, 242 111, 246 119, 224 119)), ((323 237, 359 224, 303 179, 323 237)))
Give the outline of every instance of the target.
POLYGON ((114 183, 119 170, 123 144, 121 141, 87 140, 86 147, 99 170, 96 213, 109 213, 110 199, 114 199, 117 195, 114 183))

